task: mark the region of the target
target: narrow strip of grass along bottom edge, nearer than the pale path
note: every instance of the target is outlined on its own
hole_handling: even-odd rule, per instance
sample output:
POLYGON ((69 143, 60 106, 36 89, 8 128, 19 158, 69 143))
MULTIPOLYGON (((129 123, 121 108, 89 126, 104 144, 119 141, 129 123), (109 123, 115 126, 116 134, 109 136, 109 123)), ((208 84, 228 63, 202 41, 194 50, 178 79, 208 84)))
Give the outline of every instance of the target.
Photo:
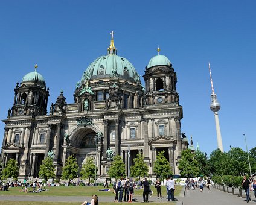
MULTIPOLYGON (((134 202, 137 204, 145 204, 145 203, 140 203, 140 202, 134 202)), ((11 201, 0 201, 0 204, 4 204, 4 205, 13 205, 13 202, 11 201)), ((36 201, 19 201, 19 205, 60 205, 60 204, 65 204, 65 205, 78 205, 78 204, 82 204, 82 203, 75 203, 75 202, 36 202, 36 201)), ((100 205, 111 205, 111 204, 115 204, 114 202, 101 202, 100 205)), ((127 205, 127 202, 126 203, 117 203, 118 205, 124 205, 126 204, 127 205)), ((130 203, 129 203, 130 204, 130 203)), ((146 204, 149 204, 149 205, 156 205, 156 204, 161 204, 161 205, 174 205, 175 203, 174 202, 164 202, 164 203, 156 203, 156 202, 149 202, 149 203, 146 203, 146 204)))

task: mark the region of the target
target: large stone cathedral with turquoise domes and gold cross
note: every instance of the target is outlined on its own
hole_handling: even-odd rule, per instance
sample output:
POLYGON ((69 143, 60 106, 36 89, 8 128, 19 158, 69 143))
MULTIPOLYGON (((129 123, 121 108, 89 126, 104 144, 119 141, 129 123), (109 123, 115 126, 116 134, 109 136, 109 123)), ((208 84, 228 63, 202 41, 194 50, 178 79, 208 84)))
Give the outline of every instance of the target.
POLYGON ((73 103, 60 92, 48 105, 49 88, 37 69, 16 84, 13 106, 3 120, 2 168, 16 159, 19 179, 39 177, 43 159, 52 153, 60 178, 72 154, 80 168, 87 157, 94 157, 98 177, 106 178, 111 165, 107 151, 112 151, 121 156, 127 172, 142 153, 153 177, 156 155, 164 151, 173 173, 179 174, 181 151, 188 140, 181 134, 183 113, 173 65, 158 48, 144 70, 143 87, 132 63, 117 55, 111 34, 107 55, 96 58, 82 73, 73 103))

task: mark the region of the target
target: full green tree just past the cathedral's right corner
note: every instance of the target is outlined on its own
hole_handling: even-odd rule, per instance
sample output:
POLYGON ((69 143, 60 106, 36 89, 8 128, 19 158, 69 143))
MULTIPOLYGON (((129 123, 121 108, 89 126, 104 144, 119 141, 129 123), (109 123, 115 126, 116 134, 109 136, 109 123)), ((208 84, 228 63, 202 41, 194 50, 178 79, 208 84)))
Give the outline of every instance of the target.
POLYGON ((179 171, 184 177, 197 177, 199 175, 198 162, 190 149, 183 150, 178 165, 179 171))

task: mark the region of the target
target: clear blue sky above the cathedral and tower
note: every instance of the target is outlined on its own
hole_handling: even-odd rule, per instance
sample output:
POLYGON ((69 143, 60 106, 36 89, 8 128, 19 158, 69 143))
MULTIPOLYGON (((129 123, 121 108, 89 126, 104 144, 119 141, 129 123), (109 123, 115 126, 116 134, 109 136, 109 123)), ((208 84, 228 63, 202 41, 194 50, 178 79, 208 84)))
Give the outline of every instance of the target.
MULTIPOLYGON (((83 71, 110 43, 138 73, 156 48, 177 73, 184 118, 181 130, 200 150, 217 148, 209 109, 211 62, 222 109, 220 130, 229 146, 255 147, 255 1, 0 1, 0 119, 6 119, 17 81, 34 70, 50 87, 51 102, 63 89, 66 101, 83 71)), ((4 123, 0 122, 0 142, 4 123)))

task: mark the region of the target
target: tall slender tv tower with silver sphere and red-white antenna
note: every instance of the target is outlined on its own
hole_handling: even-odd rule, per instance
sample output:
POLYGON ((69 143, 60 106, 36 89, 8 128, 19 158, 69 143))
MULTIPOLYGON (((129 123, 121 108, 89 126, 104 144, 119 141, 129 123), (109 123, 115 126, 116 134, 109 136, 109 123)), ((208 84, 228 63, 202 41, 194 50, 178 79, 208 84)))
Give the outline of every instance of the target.
POLYGON ((210 71, 210 79, 211 79, 211 104, 210 104, 210 109, 211 109, 211 111, 214 112, 218 148, 223 152, 222 134, 220 133, 220 123, 219 123, 219 115, 218 115, 218 111, 220 110, 220 103, 217 101, 217 95, 214 93, 214 89, 213 89, 213 79, 211 78, 210 62, 209 62, 209 71, 210 71))

